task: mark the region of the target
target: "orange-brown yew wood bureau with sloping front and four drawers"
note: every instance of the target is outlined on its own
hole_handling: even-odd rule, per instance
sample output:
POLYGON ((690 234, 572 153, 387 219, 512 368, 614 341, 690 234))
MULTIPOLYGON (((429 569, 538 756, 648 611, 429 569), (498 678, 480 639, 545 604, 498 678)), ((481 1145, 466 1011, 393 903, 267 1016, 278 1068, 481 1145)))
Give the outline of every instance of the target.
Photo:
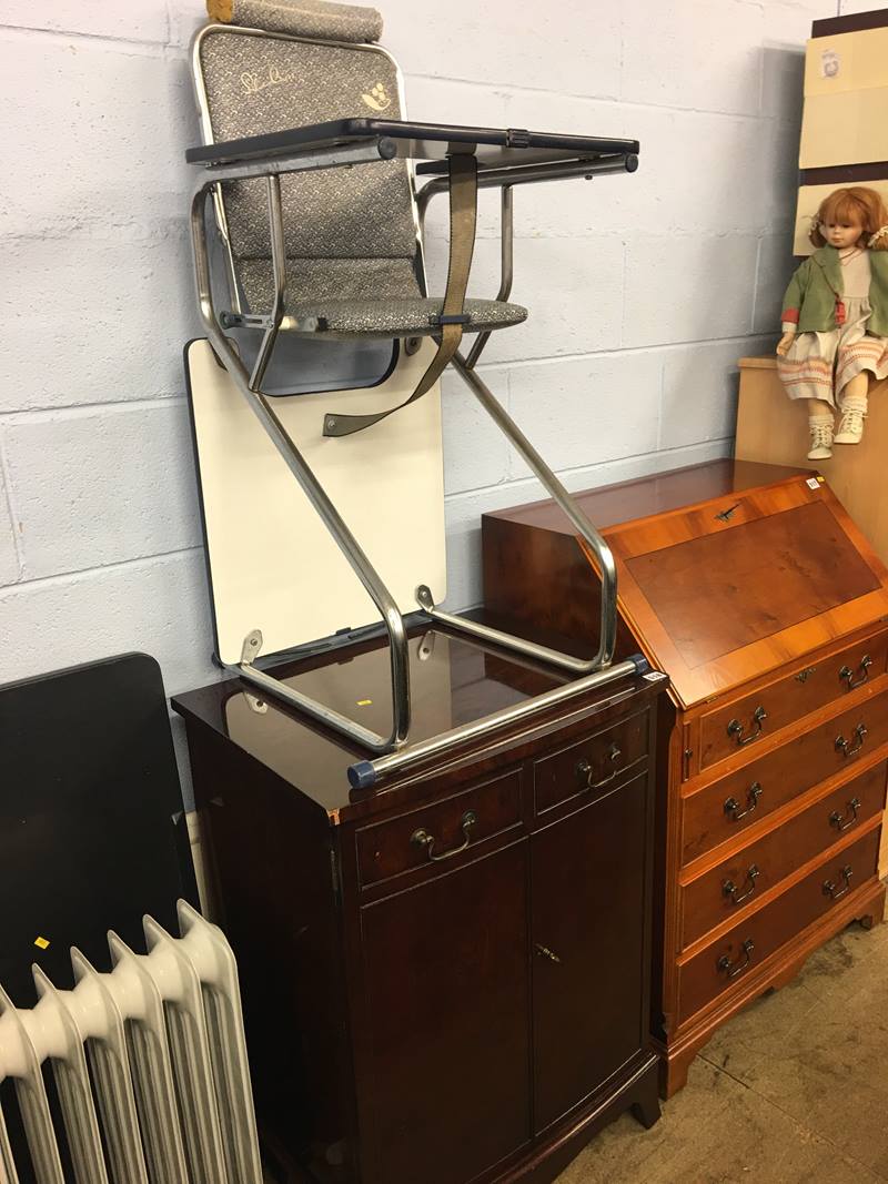
MULTIPOLYGON (((616 556, 620 644, 671 681, 652 1012, 668 1096, 721 1022, 882 918, 888 572, 810 471, 719 461, 574 496, 616 556)), ((482 532, 487 610, 585 654, 598 580, 554 507, 482 532)))

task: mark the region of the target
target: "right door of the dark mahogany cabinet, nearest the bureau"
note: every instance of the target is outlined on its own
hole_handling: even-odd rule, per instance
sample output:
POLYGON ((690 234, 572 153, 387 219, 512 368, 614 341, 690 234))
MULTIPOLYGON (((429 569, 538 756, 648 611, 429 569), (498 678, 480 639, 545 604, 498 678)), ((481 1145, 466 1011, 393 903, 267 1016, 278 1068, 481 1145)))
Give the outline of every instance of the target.
POLYGON ((532 838, 534 1126, 646 1040, 646 773, 532 838))

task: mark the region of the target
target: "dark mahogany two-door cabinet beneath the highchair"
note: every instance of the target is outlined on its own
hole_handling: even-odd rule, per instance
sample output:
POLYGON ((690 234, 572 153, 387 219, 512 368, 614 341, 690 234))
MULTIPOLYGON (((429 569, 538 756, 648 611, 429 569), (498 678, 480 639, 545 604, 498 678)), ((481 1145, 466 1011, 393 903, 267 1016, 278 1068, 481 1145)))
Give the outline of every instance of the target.
MULTIPOLYGON (((413 630, 414 740, 565 676, 413 630)), ((387 645, 276 675, 385 729, 387 645)), ((291 1178, 553 1179, 658 1117, 650 1044, 661 674, 350 790, 363 755, 230 680, 174 700, 234 947, 260 1131, 291 1178)))

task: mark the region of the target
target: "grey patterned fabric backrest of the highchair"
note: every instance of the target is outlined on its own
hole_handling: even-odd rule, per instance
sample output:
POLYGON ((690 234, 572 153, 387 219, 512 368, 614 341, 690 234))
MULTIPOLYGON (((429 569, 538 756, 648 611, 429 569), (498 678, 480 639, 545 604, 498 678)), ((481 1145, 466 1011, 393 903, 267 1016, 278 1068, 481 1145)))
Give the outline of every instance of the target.
MULTIPOLYGON (((257 6, 266 25, 270 11, 257 6)), ((315 36, 223 24, 198 34, 193 70, 207 142, 380 112, 403 117, 398 66, 368 44, 381 32, 378 13, 327 5, 317 14, 300 9, 295 26, 294 11, 284 15, 290 28, 315 36), (341 13, 330 17, 330 8, 341 13)), ((288 300, 424 295, 406 161, 289 173, 281 187, 288 300)), ((266 311, 274 283, 265 184, 230 181, 219 188, 215 211, 230 252, 230 283, 237 277, 233 308, 266 311)))

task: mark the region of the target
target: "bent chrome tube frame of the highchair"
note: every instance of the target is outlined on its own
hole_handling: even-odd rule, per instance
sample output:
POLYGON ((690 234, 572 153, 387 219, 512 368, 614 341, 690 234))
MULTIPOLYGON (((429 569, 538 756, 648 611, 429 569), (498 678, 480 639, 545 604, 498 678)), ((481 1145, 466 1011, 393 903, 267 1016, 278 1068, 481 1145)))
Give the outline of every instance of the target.
MULTIPOLYGON (((417 590, 417 603, 429 618, 446 628, 474 637, 480 642, 485 642, 513 652, 525 655, 536 661, 567 670, 579 676, 574 681, 556 687, 542 695, 525 700, 513 707, 503 708, 493 715, 475 720, 471 723, 453 728, 438 736, 419 741, 405 747, 411 720, 410 702, 410 662, 407 650, 407 635, 404 618, 391 592, 384 584, 369 559, 365 554, 358 540, 354 538, 345 520, 340 516, 333 502, 327 496, 321 483, 315 477, 307 461, 298 448, 284 429, 281 420, 262 393, 262 379, 268 368, 275 341, 282 326, 287 326, 288 317, 284 315, 285 305, 285 246, 283 230, 283 213, 281 205, 281 182, 283 173, 302 172, 316 168, 349 167, 353 163, 369 162, 387 159, 386 146, 378 141, 369 141, 360 144, 350 144, 335 149, 313 149, 292 156, 275 157, 274 160, 251 160, 249 162, 229 163, 213 166, 206 169, 206 175, 195 188, 192 199, 191 229, 192 244, 194 249, 194 270, 198 288, 198 300, 204 327, 225 369, 231 375, 240 394, 246 399, 250 408, 264 427, 275 448, 284 459, 291 474, 298 482, 309 502, 330 532, 340 551, 348 560, 352 570, 363 585, 371 599, 375 604, 386 631, 388 633, 388 648, 391 659, 392 677, 392 728, 388 736, 379 735, 367 728, 361 727, 333 708, 311 699, 301 691, 288 687, 284 682, 274 676, 256 669, 253 662, 262 649, 262 633, 253 630, 244 639, 242 661, 237 665, 239 675, 255 687, 262 688, 268 694, 305 712, 313 719, 327 725, 352 741, 363 745, 372 753, 382 754, 372 761, 360 761, 350 766, 348 771, 349 780, 355 787, 368 787, 375 784, 382 776, 390 774, 395 768, 404 768, 429 757, 436 755, 456 745, 472 740, 489 732, 506 727, 508 723, 525 719, 545 710, 547 707, 560 703, 567 699, 579 696, 593 687, 642 673, 646 663, 638 656, 626 662, 612 665, 613 650, 617 632, 617 572, 613 555, 604 539, 598 534, 585 514, 574 503, 571 495, 561 482, 536 452, 527 437, 521 432, 514 420, 503 410, 487 385, 475 372, 475 365, 487 345, 489 334, 480 334, 478 339, 464 359, 457 354, 452 365, 466 385, 470 387, 481 405, 491 417, 497 427, 508 438, 511 445, 523 457, 534 475, 551 494, 554 501, 565 511, 573 525, 581 545, 591 552, 601 578, 601 626, 598 652, 588 661, 575 658, 568 654, 561 654, 543 645, 538 645, 523 638, 515 637, 476 622, 464 620, 450 613, 440 612, 435 607, 431 592, 427 587, 420 586, 417 590), (271 262, 275 279, 275 300, 271 314, 255 318, 255 323, 264 328, 263 341, 253 365, 252 372, 247 374, 232 342, 223 333, 219 315, 217 313, 210 271, 210 256, 207 250, 207 221, 206 201, 211 194, 215 194, 217 186, 225 180, 240 180, 246 178, 265 178, 268 186, 268 211, 269 227, 271 236, 271 262)), ((497 300, 508 298, 511 290, 513 279, 513 194, 514 185, 526 185, 533 181, 564 180, 566 178, 586 176, 600 173, 632 172, 636 167, 636 157, 619 156, 598 161, 577 161, 568 165, 526 165, 495 168, 478 175, 478 186, 488 188, 500 186, 502 188, 501 199, 501 282, 497 300)), ((436 178, 426 184, 420 191, 417 205, 419 211, 420 226, 425 218, 429 200, 439 192, 446 192, 448 179, 436 178)))

